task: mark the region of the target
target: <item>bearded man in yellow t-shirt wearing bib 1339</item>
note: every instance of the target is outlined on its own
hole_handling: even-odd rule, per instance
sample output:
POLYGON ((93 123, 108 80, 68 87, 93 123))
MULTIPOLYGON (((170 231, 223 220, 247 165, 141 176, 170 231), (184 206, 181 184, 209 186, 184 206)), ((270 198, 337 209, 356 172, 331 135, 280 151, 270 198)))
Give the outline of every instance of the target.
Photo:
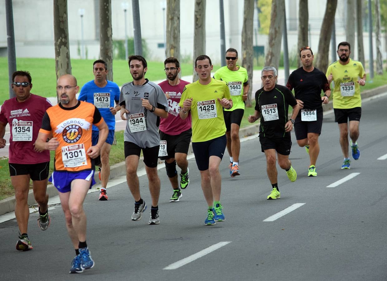
POLYGON ((351 168, 351 160, 348 158, 348 131, 351 138, 352 158, 354 160, 360 158, 360 150, 356 143, 361 117, 360 86, 364 86, 366 81, 363 65, 349 58, 350 53, 351 45, 348 42, 339 43, 337 46, 339 60, 330 64, 325 74, 329 84, 332 81, 335 83, 333 110, 335 122, 339 124, 340 146, 344 155, 341 169, 351 168))

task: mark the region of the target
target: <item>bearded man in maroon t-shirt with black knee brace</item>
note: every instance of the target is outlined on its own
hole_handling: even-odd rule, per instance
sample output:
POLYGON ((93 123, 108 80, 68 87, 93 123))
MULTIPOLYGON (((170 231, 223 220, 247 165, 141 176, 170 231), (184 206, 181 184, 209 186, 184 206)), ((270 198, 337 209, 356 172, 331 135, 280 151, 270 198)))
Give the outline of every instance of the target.
POLYGON ((192 137, 191 113, 188 113, 188 118, 185 120, 179 117, 180 98, 185 85, 189 82, 179 79, 180 63, 177 58, 167 58, 164 61, 164 67, 167 80, 159 83, 159 86, 168 99, 169 114, 168 118, 160 118, 159 157, 165 160, 165 169, 173 188, 170 202, 179 202, 179 199, 182 198, 180 188, 187 188, 190 184, 187 153, 192 137), (181 169, 180 188, 176 164, 181 169))

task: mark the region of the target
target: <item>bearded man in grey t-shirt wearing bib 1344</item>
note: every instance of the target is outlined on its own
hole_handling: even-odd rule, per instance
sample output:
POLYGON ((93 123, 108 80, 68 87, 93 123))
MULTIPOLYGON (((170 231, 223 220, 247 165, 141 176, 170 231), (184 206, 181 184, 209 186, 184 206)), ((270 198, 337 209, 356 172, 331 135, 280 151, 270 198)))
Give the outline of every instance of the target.
POLYGON ((168 101, 160 86, 144 78, 147 71, 145 58, 138 55, 130 56, 129 69, 133 82, 122 85, 119 103, 121 119, 127 120, 124 132, 124 150, 127 183, 135 200, 132 220, 140 220, 142 212, 147 207, 140 195, 137 176, 142 150, 152 198, 149 224, 159 224, 160 179, 157 174, 157 163, 160 137, 158 129, 160 117, 168 117, 168 101))

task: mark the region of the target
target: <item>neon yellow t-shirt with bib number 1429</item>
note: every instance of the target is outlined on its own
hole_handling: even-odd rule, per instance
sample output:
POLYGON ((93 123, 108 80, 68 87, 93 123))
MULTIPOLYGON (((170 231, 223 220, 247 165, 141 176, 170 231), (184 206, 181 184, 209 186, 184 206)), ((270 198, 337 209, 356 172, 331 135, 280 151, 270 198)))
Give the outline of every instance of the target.
POLYGON ((179 105, 192 98, 192 142, 204 142, 226 134, 223 106, 217 100, 230 99, 230 91, 224 81, 211 78, 208 85, 199 80, 185 86, 179 105))

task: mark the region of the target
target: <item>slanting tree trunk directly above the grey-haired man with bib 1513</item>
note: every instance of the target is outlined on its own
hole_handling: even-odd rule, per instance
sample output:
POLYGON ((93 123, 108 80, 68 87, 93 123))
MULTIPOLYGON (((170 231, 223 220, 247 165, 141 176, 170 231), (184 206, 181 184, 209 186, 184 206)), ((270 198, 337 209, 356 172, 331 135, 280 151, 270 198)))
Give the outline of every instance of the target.
POLYGON ((281 58, 281 41, 284 27, 285 1, 273 0, 270 13, 269 38, 265 66, 274 66, 277 70, 281 58))

